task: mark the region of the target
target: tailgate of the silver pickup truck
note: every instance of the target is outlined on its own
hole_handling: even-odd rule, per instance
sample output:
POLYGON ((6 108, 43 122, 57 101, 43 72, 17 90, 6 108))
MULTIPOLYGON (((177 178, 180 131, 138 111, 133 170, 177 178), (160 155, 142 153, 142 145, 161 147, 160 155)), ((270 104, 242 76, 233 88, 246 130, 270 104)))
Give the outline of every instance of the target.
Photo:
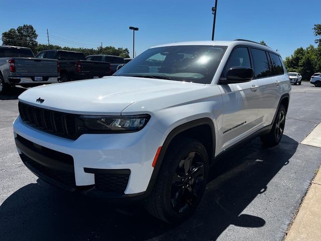
POLYGON ((58 75, 57 60, 15 58, 17 75, 58 75))

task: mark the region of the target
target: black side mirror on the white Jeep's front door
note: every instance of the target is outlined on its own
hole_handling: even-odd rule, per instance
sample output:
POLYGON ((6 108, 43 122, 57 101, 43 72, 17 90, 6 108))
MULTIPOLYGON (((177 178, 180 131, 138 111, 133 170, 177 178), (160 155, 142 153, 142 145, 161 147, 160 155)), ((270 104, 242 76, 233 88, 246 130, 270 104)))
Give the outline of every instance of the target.
POLYGON ((253 79, 253 69, 248 67, 231 67, 227 71, 226 76, 226 79, 220 80, 221 84, 249 82, 253 79))

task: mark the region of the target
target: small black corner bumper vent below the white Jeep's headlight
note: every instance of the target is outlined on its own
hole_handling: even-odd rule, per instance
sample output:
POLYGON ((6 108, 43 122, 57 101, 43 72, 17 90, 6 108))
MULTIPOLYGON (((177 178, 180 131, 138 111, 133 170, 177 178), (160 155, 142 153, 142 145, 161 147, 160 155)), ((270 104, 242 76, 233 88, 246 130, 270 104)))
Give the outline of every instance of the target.
POLYGON ((124 193, 127 187, 129 175, 130 173, 95 174, 95 186, 98 190, 103 192, 124 193))

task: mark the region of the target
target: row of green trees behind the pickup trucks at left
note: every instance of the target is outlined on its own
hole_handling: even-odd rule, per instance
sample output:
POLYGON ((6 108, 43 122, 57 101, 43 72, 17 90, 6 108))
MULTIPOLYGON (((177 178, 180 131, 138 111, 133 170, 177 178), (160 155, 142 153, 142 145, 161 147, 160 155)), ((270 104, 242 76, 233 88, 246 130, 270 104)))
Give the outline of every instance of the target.
POLYGON ((17 29, 10 29, 2 34, 3 45, 29 47, 36 54, 43 50, 62 49, 82 52, 85 56, 92 54, 109 54, 129 58, 127 48, 115 48, 113 46, 97 47, 97 49, 61 47, 59 45, 38 44, 37 33, 32 25, 19 26, 17 29))

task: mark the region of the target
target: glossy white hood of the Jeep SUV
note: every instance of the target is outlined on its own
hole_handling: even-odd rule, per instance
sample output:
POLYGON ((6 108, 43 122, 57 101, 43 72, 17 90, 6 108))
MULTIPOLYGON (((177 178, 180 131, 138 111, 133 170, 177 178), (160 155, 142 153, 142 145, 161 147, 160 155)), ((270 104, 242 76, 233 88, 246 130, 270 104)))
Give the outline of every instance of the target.
POLYGON ((108 76, 34 87, 22 93, 19 100, 68 113, 119 115, 137 101, 166 99, 204 86, 173 80, 108 76), (38 98, 44 101, 37 102, 38 98))

